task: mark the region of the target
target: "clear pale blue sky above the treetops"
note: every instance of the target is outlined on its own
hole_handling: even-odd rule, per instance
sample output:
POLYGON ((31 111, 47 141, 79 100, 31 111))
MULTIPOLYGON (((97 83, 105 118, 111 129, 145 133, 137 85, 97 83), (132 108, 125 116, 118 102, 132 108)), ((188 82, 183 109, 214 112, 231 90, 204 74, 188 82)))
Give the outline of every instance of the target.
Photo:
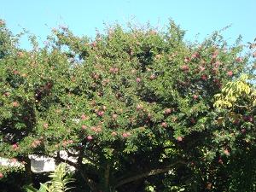
MULTIPOLYGON (((142 25, 164 26, 172 18, 186 30, 186 39, 199 40, 230 26, 224 38, 234 43, 241 34, 243 44, 256 38, 256 0, 0 0, 0 19, 17 34, 22 28, 44 42, 50 29, 68 26, 77 36, 93 37, 96 28, 103 32, 103 23, 131 21, 142 25), (136 19, 133 17, 136 16, 136 19)), ((26 39, 21 47, 29 49, 26 39)))

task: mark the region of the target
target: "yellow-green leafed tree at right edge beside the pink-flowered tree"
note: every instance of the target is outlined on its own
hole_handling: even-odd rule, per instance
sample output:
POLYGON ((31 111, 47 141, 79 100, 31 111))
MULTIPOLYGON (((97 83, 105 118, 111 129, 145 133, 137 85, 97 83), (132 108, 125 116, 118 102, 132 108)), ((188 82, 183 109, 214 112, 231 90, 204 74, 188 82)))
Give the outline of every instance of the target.
POLYGON ((224 85, 222 92, 215 96, 216 108, 224 110, 224 116, 219 117, 218 124, 224 130, 230 131, 235 140, 232 152, 227 161, 226 175, 230 180, 230 189, 255 189, 254 174, 255 159, 255 105, 256 90, 253 80, 247 74, 224 85), (241 183, 241 177, 244 178, 241 183))

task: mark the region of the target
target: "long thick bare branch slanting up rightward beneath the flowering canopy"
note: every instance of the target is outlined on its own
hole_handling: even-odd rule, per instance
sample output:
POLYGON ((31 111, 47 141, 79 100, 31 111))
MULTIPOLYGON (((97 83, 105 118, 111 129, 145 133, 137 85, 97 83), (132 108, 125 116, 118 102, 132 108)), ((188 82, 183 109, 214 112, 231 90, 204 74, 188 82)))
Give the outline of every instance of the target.
POLYGON ((188 163, 184 160, 177 160, 177 162, 172 163, 171 165, 166 166, 164 168, 150 170, 148 172, 143 172, 143 173, 137 174, 135 176, 125 178, 125 179, 119 181, 119 183, 115 184, 113 186, 113 189, 118 188, 119 186, 121 186, 125 183, 130 183, 132 181, 135 181, 135 180, 137 180, 139 178, 142 178, 142 177, 148 177, 148 176, 152 176, 152 175, 157 175, 157 174, 162 173, 162 172, 168 172, 170 169, 173 169, 177 166, 181 166, 181 164, 187 165, 188 163))

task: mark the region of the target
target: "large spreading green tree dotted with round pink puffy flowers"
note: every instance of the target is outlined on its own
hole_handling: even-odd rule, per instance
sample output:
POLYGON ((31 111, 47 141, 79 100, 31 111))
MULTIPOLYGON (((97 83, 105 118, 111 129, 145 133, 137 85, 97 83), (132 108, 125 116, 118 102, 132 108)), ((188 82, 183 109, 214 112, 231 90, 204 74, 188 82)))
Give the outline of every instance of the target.
POLYGON ((164 30, 107 26, 94 39, 61 26, 41 48, 33 36, 30 51, 1 45, 0 156, 25 162, 27 183, 27 156, 39 154, 67 161, 92 191, 225 189, 209 170, 225 172, 216 162, 237 141, 218 125, 213 96, 251 73, 249 55, 241 37, 192 44, 184 34, 172 20, 164 30))

